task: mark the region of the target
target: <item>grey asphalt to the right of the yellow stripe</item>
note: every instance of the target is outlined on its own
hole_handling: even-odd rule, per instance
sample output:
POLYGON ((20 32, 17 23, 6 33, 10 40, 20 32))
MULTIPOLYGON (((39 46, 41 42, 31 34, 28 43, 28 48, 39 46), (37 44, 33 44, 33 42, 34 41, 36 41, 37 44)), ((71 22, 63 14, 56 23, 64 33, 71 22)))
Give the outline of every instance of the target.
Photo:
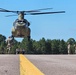
POLYGON ((45 75, 76 75, 76 55, 25 55, 45 75))

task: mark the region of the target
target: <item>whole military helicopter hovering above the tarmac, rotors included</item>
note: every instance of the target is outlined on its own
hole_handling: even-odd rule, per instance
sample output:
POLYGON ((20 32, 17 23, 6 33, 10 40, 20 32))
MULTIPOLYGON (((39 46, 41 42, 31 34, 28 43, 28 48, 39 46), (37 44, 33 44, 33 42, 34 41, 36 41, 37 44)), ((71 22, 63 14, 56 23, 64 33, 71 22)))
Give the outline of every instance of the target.
MULTIPOLYGON (((42 15, 42 14, 55 14, 55 13, 65 13, 65 11, 56 11, 56 12, 42 12, 42 10, 49 10, 52 8, 43 8, 43 9, 37 9, 37 10, 29 10, 29 11, 12 11, 12 10, 7 10, 0 8, 0 12, 12 12, 18 14, 18 19, 15 20, 13 23, 13 28, 12 28, 12 36, 9 37, 13 38, 14 37, 27 37, 28 40, 30 40, 30 33, 31 30, 29 28, 30 23, 24 19, 24 15, 42 15)), ((9 16, 15 16, 15 15, 8 15, 9 16)), ((8 40, 10 41, 10 40, 8 40)))

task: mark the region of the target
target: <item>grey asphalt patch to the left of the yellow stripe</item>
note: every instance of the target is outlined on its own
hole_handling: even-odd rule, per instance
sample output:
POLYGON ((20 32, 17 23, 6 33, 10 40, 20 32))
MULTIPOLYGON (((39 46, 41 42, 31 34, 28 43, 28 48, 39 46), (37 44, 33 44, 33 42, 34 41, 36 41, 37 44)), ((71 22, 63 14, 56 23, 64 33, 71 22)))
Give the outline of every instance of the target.
POLYGON ((19 56, 0 55, 0 75, 19 75, 19 56))

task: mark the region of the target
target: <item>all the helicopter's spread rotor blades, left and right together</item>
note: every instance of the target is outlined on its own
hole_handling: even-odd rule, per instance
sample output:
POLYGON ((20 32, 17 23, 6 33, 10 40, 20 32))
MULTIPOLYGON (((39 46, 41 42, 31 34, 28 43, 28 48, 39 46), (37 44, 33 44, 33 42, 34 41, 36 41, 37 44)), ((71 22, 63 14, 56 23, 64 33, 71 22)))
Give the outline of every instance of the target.
MULTIPOLYGON (((36 9, 36 10, 29 10, 29 11, 11 11, 7 9, 0 8, 0 12, 12 12, 16 14, 22 13, 23 15, 41 15, 41 14, 55 14, 55 13, 65 13, 65 11, 56 11, 56 12, 41 12, 40 10, 48 10, 52 8, 43 8, 43 9, 36 9)), ((8 15, 9 16, 14 16, 14 15, 8 15)))

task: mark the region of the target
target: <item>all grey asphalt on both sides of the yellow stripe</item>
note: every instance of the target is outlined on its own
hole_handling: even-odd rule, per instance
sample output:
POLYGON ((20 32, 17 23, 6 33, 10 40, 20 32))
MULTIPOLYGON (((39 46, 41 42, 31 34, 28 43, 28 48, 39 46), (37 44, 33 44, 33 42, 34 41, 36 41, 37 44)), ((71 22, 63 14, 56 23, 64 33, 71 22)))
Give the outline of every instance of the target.
MULTIPOLYGON (((44 75, 76 75, 76 55, 25 55, 44 75)), ((0 55, 0 75, 20 75, 19 55, 0 55)))

